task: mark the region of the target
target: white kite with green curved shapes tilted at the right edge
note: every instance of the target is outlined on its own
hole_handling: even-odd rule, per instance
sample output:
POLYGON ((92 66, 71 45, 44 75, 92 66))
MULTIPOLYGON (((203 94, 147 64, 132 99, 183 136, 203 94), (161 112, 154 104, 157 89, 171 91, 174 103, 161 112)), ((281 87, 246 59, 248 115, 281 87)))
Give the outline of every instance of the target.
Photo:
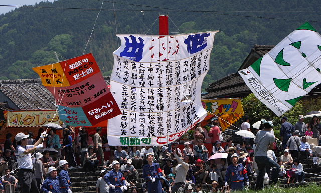
POLYGON ((321 36, 308 23, 239 74, 277 116, 321 83, 321 36))

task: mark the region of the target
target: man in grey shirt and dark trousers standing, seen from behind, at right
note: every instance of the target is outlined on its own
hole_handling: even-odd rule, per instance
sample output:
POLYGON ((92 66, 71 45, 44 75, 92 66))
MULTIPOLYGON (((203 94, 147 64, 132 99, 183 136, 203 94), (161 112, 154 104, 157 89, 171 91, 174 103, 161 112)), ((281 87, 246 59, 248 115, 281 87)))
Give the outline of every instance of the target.
POLYGON ((256 148, 254 151, 254 158, 255 162, 257 164, 257 168, 259 170, 259 174, 256 178, 256 185, 255 188, 263 189, 263 181, 264 181, 264 175, 265 175, 265 167, 270 166, 272 168, 271 173, 271 181, 272 183, 276 183, 278 180, 279 175, 279 168, 280 165, 277 164, 273 159, 270 159, 267 156, 268 149, 273 149, 273 143, 275 141, 274 135, 270 133, 272 129, 272 121, 266 121, 261 120, 264 129, 260 130, 256 134, 256 138, 254 140, 254 143, 256 143, 256 148))

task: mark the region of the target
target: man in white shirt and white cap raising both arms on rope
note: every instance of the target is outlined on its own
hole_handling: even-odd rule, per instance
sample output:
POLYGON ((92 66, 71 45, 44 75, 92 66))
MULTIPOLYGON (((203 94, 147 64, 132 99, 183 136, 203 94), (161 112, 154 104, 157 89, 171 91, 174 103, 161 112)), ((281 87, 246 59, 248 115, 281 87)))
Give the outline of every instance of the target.
POLYGON ((22 192, 39 192, 37 181, 33 172, 31 154, 37 149, 43 148, 42 141, 46 132, 41 133, 39 140, 34 145, 27 145, 29 134, 22 132, 15 136, 17 148, 15 155, 18 163, 18 181, 21 185, 22 192))

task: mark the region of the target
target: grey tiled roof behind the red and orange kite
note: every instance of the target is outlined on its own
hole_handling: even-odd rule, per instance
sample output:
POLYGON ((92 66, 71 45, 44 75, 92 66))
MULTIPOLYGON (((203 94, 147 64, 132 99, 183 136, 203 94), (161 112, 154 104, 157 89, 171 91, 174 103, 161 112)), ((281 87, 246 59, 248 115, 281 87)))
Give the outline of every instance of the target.
MULTIPOLYGON (((110 77, 104 76, 104 79, 109 85, 110 77)), ((0 92, 7 96, 18 109, 55 109, 54 97, 43 86, 40 79, 0 80, 0 92)))

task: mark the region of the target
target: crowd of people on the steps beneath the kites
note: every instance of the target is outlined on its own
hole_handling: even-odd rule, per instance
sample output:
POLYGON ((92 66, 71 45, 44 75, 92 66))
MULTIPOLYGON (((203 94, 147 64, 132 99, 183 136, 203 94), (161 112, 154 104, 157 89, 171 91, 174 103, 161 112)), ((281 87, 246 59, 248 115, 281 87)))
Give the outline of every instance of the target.
POLYGON ((89 136, 86 127, 79 128, 76 135, 73 127, 66 126, 62 142, 55 129, 49 132, 40 129, 37 137, 32 133, 18 133, 14 142, 8 133, 0 157, 0 191, 6 187, 17 188, 18 184, 21 192, 71 193, 68 169, 77 167, 85 171, 103 168, 96 183, 97 193, 201 193, 202 184, 212 184, 213 193, 222 188, 242 190, 252 180, 256 180, 255 188, 259 190, 285 178, 287 183, 305 183, 299 160, 318 157, 321 146, 307 142, 308 138, 319 140, 318 118, 313 117, 308 124, 303 120, 299 115, 293 126, 286 117, 281 118, 281 148, 277 148, 272 121, 262 120, 260 128, 253 131, 249 117, 244 116, 240 129, 253 132, 254 140, 243 137, 242 142, 234 144, 233 138, 229 138, 223 145, 221 129, 214 120, 209 131, 198 125, 194 140, 185 142, 182 151, 178 142, 162 147, 117 146, 106 161, 100 127, 89 136), (207 149, 206 141, 212 144, 212 149, 207 149), (45 150, 44 146, 56 152, 45 150), (217 153, 228 155, 209 159, 217 153), (144 181, 139 186, 138 171, 141 170, 144 181))

